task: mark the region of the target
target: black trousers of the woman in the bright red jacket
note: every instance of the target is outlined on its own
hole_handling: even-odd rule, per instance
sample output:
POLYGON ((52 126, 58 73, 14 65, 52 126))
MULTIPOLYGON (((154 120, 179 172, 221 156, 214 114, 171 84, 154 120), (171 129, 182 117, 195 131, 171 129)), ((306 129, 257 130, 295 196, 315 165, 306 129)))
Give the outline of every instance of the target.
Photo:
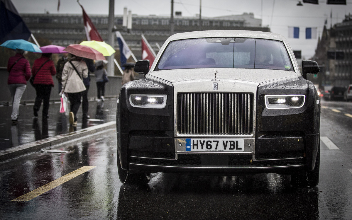
POLYGON ((34 89, 36 89, 37 96, 34 101, 33 111, 38 112, 43 101, 43 118, 48 116, 51 87, 52 85, 34 84, 34 89))

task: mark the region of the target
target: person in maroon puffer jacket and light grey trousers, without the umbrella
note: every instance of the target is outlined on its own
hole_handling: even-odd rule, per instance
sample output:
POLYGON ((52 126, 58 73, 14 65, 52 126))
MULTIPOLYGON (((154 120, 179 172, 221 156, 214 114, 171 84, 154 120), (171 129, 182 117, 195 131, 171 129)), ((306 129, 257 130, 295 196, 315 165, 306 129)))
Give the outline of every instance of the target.
POLYGON ((12 124, 18 122, 18 109, 22 95, 27 86, 27 80, 31 77, 31 66, 23 56, 24 50, 16 49, 16 55, 10 57, 7 62, 9 72, 7 84, 12 97, 12 124))

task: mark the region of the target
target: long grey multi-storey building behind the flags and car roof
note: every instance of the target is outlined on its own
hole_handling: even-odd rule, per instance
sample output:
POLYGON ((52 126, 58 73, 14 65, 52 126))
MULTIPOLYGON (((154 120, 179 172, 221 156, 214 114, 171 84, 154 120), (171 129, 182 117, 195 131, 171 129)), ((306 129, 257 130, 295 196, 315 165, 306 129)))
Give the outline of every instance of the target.
MULTIPOLYGON (((44 38, 52 44, 67 46, 86 40, 82 14, 21 14, 25 23, 37 38, 44 38)), ((108 39, 108 16, 89 15, 101 37, 108 39)), ((174 33, 199 30, 255 30, 270 32, 269 27, 261 26, 262 20, 254 18, 253 13, 207 18, 174 16, 174 33)), ((141 35, 144 34, 157 53, 171 35, 170 16, 132 15, 132 29, 122 28, 122 15, 115 16, 114 25, 121 32, 126 43, 137 59, 141 59, 141 35)), ((115 42, 115 49, 118 44, 115 42)))

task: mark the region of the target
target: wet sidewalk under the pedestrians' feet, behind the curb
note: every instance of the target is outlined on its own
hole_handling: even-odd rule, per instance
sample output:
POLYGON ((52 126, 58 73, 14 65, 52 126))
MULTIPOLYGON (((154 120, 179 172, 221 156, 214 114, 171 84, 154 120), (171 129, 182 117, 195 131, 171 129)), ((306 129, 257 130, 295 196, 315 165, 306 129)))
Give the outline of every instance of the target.
POLYGON ((68 134, 82 128, 116 120, 117 99, 105 99, 100 104, 96 101, 89 102, 87 121, 82 121, 82 105, 77 112, 77 127, 70 127, 68 114, 59 113, 60 103, 50 102, 49 118, 42 120, 42 108, 38 111, 38 117, 33 116, 33 103, 20 105, 18 124, 12 125, 12 105, 0 105, 0 151, 33 141, 54 137, 60 134, 68 134))

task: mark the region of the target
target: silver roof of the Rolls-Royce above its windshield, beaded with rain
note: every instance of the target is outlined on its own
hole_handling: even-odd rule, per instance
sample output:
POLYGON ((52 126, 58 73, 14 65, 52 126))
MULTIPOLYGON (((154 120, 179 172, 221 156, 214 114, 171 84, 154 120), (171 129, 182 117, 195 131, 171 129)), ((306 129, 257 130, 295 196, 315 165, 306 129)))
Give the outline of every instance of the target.
POLYGON ((188 39, 188 38, 212 38, 212 37, 244 37, 244 38, 261 38, 287 41, 286 38, 277 33, 263 31, 243 31, 243 30, 212 30, 212 31, 193 31, 177 33, 168 38, 167 41, 188 39))

